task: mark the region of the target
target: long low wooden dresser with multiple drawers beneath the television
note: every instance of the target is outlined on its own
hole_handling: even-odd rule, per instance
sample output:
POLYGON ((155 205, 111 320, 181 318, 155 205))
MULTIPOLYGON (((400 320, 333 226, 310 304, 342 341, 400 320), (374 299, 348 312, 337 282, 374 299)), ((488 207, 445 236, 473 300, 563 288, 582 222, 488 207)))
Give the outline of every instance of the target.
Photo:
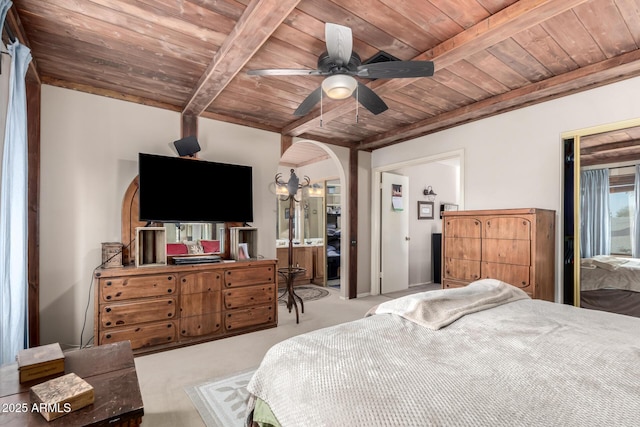
POLYGON ((278 323, 276 260, 99 269, 95 279, 96 345, 130 340, 141 354, 278 323))

